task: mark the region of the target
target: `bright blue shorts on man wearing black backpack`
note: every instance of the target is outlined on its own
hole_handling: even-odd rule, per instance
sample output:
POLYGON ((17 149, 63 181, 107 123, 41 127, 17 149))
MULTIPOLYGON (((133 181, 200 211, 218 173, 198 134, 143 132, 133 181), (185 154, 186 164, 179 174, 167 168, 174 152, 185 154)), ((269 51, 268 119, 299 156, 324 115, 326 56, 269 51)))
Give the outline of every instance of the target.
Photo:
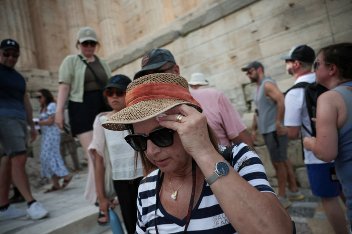
POLYGON ((339 182, 330 181, 329 168, 334 163, 306 164, 310 188, 315 196, 319 197, 337 197, 342 186, 339 182))

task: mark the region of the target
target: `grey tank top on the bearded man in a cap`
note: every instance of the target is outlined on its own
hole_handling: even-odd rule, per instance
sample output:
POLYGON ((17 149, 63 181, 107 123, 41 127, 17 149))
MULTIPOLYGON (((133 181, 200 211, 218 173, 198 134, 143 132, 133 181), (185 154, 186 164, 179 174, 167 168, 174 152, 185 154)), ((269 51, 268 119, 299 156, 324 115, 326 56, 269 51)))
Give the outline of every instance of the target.
POLYGON ((276 82, 265 77, 261 80, 257 90, 254 91, 253 101, 256 107, 255 119, 260 134, 267 134, 276 131, 276 116, 278 113, 277 103, 267 98, 264 90, 264 85, 267 82, 276 82))

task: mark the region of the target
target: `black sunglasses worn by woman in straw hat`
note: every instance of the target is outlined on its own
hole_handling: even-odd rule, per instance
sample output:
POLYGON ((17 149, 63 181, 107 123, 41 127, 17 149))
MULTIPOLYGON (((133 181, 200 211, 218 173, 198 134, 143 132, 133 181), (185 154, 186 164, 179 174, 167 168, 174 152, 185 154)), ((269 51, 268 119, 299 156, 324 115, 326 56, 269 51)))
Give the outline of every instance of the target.
POLYGON ((147 140, 151 140, 158 147, 168 147, 173 144, 173 133, 176 131, 169 128, 159 128, 151 131, 149 135, 130 134, 125 137, 126 142, 136 151, 147 149, 147 140))

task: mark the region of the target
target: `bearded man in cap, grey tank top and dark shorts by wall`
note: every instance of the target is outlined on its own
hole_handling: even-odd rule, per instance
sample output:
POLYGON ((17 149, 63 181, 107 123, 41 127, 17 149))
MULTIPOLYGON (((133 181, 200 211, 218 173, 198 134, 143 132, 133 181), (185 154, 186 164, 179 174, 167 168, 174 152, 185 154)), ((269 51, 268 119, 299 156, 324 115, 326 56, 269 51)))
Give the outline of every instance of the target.
POLYGON ((255 113, 251 137, 253 141, 257 141, 255 137, 256 129, 263 135, 278 178, 278 198, 281 204, 288 208, 291 205, 289 199, 300 200, 304 196, 298 190, 295 172, 290 160, 287 159, 289 139, 283 126, 285 97, 276 86, 276 82, 265 76, 261 63, 251 62, 247 67, 242 68, 242 71, 247 72, 250 81, 258 85, 253 94, 255 113), (289 189, 286 191, 287 182, 289 183, 289 189))

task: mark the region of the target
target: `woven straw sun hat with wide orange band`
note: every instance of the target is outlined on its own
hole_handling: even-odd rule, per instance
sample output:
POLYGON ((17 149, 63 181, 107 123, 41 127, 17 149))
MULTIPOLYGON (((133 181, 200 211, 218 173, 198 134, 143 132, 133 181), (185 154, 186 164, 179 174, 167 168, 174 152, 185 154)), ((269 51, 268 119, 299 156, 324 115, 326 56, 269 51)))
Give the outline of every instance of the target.
POLYGON ((127 86, 126 108, 111 116, 102 126, 113 131, 127 130, 128 124, 151 119, 181 104, 203 111, 191 96, 185 78, 169 73, 142 76, 127 86))

